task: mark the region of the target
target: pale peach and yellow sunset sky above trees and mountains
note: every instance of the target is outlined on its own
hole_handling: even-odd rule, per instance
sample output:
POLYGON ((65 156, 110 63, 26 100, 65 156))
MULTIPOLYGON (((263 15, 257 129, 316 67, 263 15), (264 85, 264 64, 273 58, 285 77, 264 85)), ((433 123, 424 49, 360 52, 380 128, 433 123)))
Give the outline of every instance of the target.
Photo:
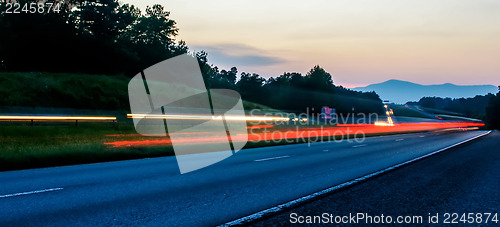
POLYGON ((321 65, 334 83, 500 85, 497 0, 126 0, 161 4, 191 50, 264 77, 321 65))

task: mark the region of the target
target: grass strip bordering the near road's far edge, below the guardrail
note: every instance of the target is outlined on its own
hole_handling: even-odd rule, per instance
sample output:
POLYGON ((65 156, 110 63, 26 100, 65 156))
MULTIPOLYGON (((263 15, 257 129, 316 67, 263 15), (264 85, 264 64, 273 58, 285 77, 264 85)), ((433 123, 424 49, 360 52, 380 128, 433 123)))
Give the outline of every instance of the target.
MULTIPOLYGON (((421 131, 418 131, 421 132, 421 131)), ((416 132, 367 134, 366 137, 416 132)), ((131 125, 117 128, 106 125, 3 126, 0 127, 0 171, 53 167, 74 164, 140 159, 174 155, 169 145, 111 148, 105 143, 117 140, 164 139, 143 137, 131 125), (118 136, 116 136, 118 135, 118 136)), ((245 149, 285 144, 332 141, 349 137, 316 137, 287 141, 248 142, 245 149)))

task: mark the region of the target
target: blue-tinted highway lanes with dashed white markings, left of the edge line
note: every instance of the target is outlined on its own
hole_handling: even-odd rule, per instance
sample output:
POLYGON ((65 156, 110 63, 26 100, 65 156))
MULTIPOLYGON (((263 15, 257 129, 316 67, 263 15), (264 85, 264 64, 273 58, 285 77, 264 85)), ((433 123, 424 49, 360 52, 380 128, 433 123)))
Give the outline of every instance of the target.
POLYGON ((485 134, 429 132, 0 173, 0 226, 218 225, 485 134))

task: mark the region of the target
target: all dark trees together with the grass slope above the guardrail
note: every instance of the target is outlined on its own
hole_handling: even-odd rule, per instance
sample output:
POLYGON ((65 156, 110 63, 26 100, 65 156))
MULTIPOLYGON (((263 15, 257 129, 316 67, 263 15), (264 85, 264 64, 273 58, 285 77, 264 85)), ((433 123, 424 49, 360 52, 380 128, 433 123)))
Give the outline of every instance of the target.
MULTIPOLYGON (((292 112, 318 112, 322 106, 337 113, 382 111, 377 94, 336 86, 320 66, 305 75, 286 72, 269 79, 236 67, 219 69, 206 52, 192 53, 176 39, 177 23, 162 5, 141 11, 118 0, 61 4, 60 13, 0 13, 0 72, 9 72, 0 79, 8 88, 0 105, 126 110, 126 78, 189 53, 198 58, 208 88, 235 89, 249 102, 292 112)), ((0 12, 4 8, 0 4, 0 12)))

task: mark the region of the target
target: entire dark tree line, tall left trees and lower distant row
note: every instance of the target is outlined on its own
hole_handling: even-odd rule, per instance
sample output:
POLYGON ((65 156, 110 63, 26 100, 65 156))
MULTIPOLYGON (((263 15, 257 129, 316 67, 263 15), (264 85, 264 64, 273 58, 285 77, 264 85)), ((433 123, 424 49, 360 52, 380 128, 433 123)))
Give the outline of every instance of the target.
MULTIPOLYGON (((67 0, 60 9, 60 13, 5 14, 5 4, 0 5, 0 71, 132 77, 189 52, 185 42, 176 40, 179 29, 161 5, 142 12, 117 0, 67 0)), ((221 70, 210 65, 204 51, 192 54, 198 58, 207 87, 235 89, 249 102, 297 112, 318 112, 322 106, 339 113, 382 111, 376 93, 335 86, 332 76, 319 66, 305 75, 286 72, 265 79, 256 73, 239 73, 236 67, 221 70)))

